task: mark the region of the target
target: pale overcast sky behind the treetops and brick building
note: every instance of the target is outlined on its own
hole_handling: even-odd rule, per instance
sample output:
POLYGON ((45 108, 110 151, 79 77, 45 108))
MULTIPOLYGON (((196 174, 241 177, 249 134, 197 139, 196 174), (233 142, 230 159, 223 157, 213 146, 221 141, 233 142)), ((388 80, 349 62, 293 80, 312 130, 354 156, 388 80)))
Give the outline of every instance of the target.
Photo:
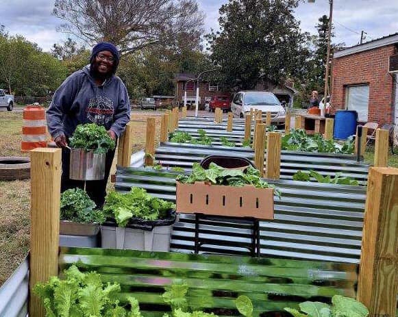
MULTIPOLYGON (((205 27, 218 28, 219 7, 226 0, 198 0, 206 14, 205 27)), ((10 34, 21 34, 42 49, 49 51, 54 42, 62 42, 67 36, 55 30, 62 23, 51 15, 53 0, 0 0, 0 25, 10 34)), ((356 45, 362 30, 366 40, 380 38, 398 32, 398 0, 334 0, 334 42, 356 45)), ((295 15, 301 21, 301 29, 315 33, 314 25, 323 14, 329 14, 329 1, 301 3, 295 15)), ((365 41, 366 41, 365 40, 365 41)))

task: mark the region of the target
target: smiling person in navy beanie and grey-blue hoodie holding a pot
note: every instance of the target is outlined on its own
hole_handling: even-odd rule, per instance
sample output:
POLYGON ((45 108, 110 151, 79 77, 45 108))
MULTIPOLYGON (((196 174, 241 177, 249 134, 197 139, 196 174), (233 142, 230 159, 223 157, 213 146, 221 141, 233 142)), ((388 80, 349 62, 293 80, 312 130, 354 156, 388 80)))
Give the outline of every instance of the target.
MULTIPOLYGON (((98 43, 92 49, 90 65, 66 78, 54 93, 47 110, 47 125, 53 140, 62 148, 61 192, 69 188, 84 189, 84 181, 69 179, 70 151, 66 146, 77 125, 102 125, 116 141, 129 122, 127 89, 121 79, 114 75, 119 58, 119 51, 114 45, 98 43)), ((98 208, 105 201, 113 157, 114 151, 108 151, 103 180, 86 181, 86 192, 98 208)))

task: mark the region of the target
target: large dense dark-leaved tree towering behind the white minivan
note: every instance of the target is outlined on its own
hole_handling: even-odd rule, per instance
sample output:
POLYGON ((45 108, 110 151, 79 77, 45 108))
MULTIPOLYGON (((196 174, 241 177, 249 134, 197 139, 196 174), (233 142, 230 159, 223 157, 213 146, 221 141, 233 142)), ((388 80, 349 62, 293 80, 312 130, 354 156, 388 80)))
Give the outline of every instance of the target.
POLYGON ((306 34, 293 16, 296 0, 229 0, 219 12, 220 32, 208 34, 214 66, 230 88, 253 89, 305 72, 306 34))

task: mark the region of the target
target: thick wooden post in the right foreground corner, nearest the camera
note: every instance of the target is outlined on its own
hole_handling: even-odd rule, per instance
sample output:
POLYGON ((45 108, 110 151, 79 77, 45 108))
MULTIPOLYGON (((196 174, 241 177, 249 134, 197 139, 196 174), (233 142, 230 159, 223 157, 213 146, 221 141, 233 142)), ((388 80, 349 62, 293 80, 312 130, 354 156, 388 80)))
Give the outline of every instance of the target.
POLYGON ((358 301, 368 307, 370 317, 395 317, 396 314, 397 192, 398 168, 370 168, 357 293, 358 301))

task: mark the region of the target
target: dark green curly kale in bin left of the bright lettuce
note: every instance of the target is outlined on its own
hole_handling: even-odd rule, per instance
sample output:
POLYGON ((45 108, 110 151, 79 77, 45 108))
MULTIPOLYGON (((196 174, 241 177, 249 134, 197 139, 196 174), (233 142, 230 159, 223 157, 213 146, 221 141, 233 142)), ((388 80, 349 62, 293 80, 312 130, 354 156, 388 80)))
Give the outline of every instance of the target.
POLYGON ((81 188, 71 188, 61 194, 61 220, 74 223, 103 223, 103 213, 95 209, 95 203, 81 188))

